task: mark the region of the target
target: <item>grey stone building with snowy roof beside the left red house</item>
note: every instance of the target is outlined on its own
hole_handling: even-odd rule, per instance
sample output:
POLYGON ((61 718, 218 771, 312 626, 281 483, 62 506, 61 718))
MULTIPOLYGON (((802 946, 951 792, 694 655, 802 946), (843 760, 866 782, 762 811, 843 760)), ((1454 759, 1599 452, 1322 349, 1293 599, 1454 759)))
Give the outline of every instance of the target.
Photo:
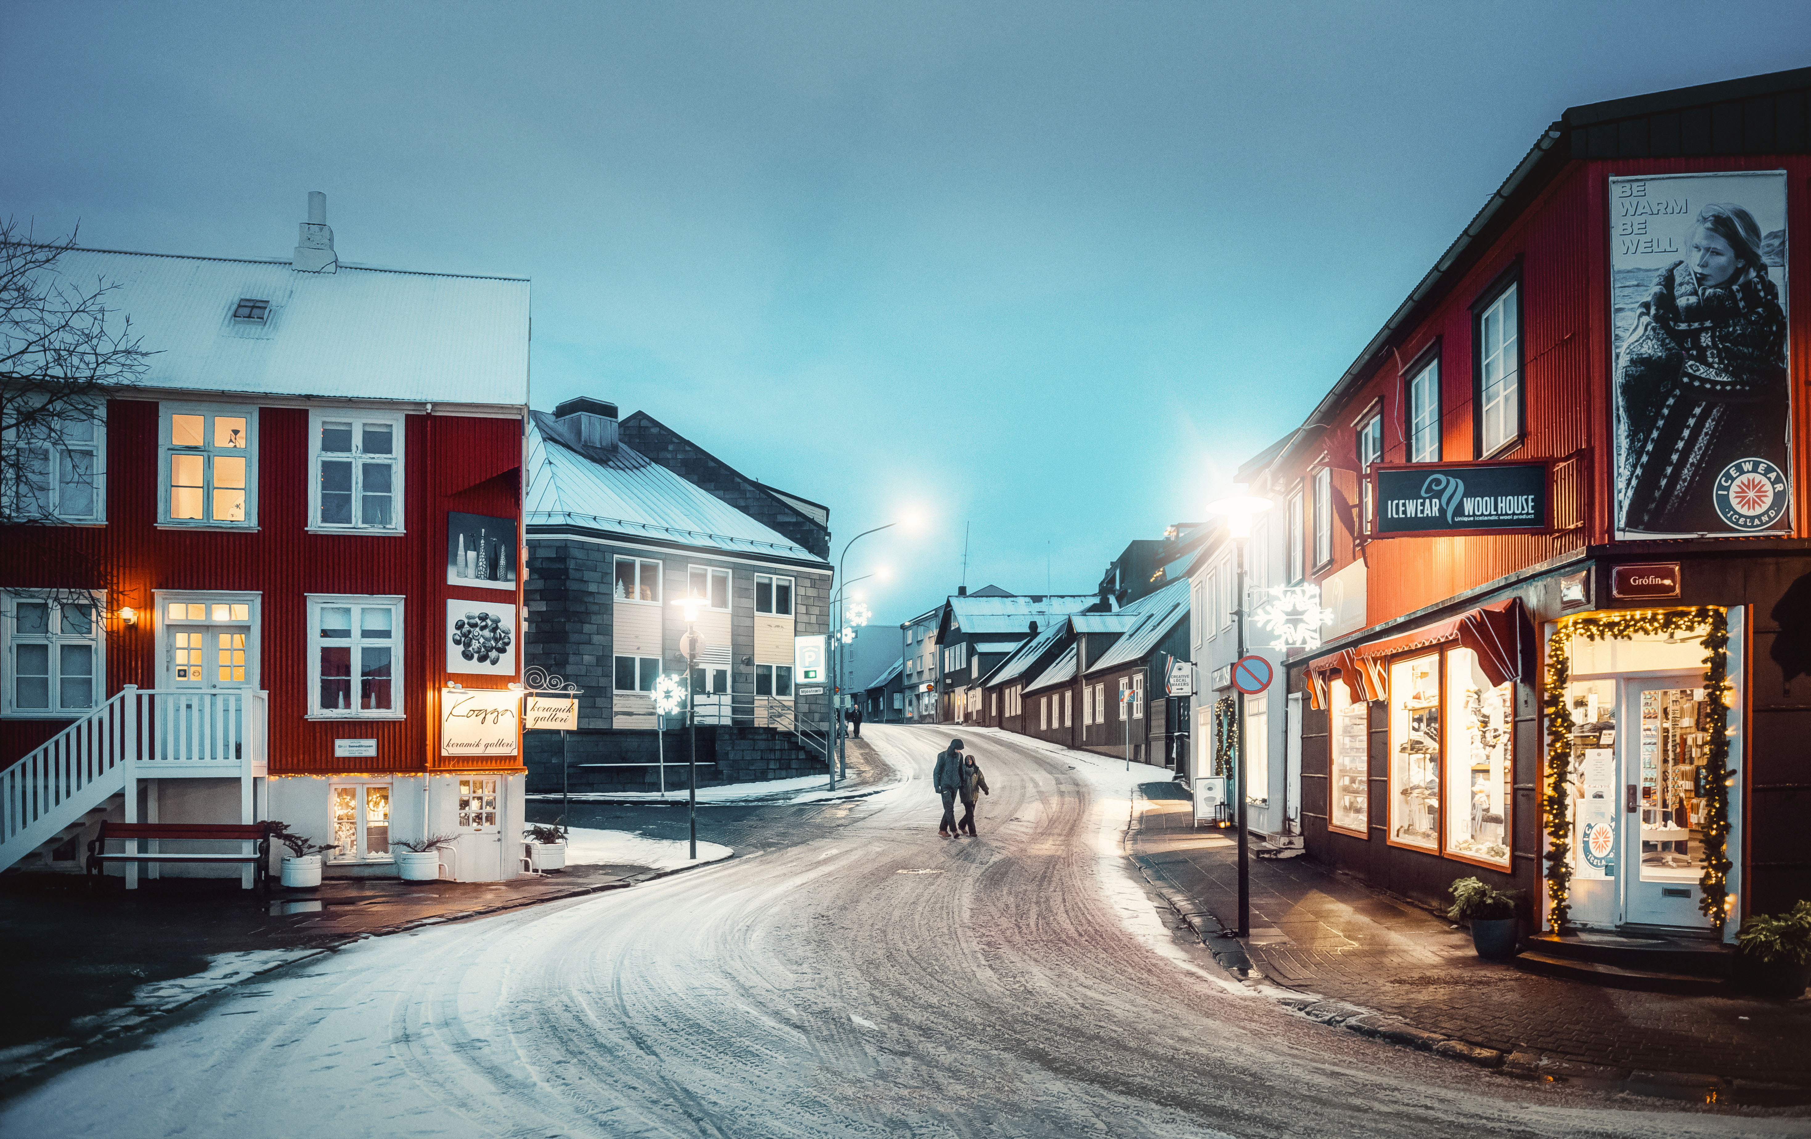
MULTIPOLYGON (((802 545, 828 545, 828 511, 819 507, 819 523, 795 505, 806 500, 782 502, 652 418, 632 418, 708 485, 625 442, 614 404, 576 398, 531 415, 525 663, 583 690, 578 732, 529 733, 531 793, 657 786, 654 692, 661 675, 686 684, 688 630, 703 637, 690 688, 699 762, 712 764, 699 786, 822 771, 810 737, 829 697, 793 675, 793 637, 828 632, 831 567, 802 545)), ((683 764, 688 742, 668 730, 666 762, 683 764)), ((665 780, 685 786, 685 771, 668 768, 665 780)))

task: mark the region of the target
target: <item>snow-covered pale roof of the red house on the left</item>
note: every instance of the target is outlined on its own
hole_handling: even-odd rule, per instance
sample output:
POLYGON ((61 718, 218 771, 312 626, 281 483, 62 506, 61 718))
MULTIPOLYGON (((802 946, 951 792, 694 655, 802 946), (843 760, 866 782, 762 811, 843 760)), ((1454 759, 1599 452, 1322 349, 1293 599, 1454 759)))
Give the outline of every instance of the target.
POLYGON ((109 326, 143 337, 139 384, 244 395, 525 407, 529 281, 288 261, 69 250, 54 273, 107 293, 109 326), (235 321, 241 299, 264 321, 235 321))

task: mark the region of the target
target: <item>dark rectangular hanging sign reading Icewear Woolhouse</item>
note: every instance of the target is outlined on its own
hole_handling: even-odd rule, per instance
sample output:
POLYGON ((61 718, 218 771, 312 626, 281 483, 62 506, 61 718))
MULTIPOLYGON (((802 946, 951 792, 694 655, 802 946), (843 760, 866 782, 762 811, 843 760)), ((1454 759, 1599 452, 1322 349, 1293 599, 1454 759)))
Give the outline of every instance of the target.
POLYGON ((1548 465, 1376 464, 1373 534, 1528 534, 1552 527, 1548 465))

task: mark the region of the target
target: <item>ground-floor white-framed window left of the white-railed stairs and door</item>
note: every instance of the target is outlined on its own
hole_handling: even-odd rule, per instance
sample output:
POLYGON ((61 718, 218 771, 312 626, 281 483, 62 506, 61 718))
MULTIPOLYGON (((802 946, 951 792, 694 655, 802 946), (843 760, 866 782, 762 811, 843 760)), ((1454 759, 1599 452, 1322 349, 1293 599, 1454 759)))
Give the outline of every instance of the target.
POLYGON ((85 715, 100 703, 105 636, 98 605, 5 594, 0 621, 7 715, 85 715))

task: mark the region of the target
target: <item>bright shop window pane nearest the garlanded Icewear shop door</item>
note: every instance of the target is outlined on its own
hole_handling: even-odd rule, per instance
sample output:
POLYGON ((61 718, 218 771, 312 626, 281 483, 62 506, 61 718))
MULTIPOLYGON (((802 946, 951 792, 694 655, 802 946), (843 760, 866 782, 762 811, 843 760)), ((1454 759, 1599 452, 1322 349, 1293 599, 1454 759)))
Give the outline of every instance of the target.
POLYGON ((1509 869, 1514 684, 1490 684, 1471 648, 1447 652, 1447 853, 1509 869))

